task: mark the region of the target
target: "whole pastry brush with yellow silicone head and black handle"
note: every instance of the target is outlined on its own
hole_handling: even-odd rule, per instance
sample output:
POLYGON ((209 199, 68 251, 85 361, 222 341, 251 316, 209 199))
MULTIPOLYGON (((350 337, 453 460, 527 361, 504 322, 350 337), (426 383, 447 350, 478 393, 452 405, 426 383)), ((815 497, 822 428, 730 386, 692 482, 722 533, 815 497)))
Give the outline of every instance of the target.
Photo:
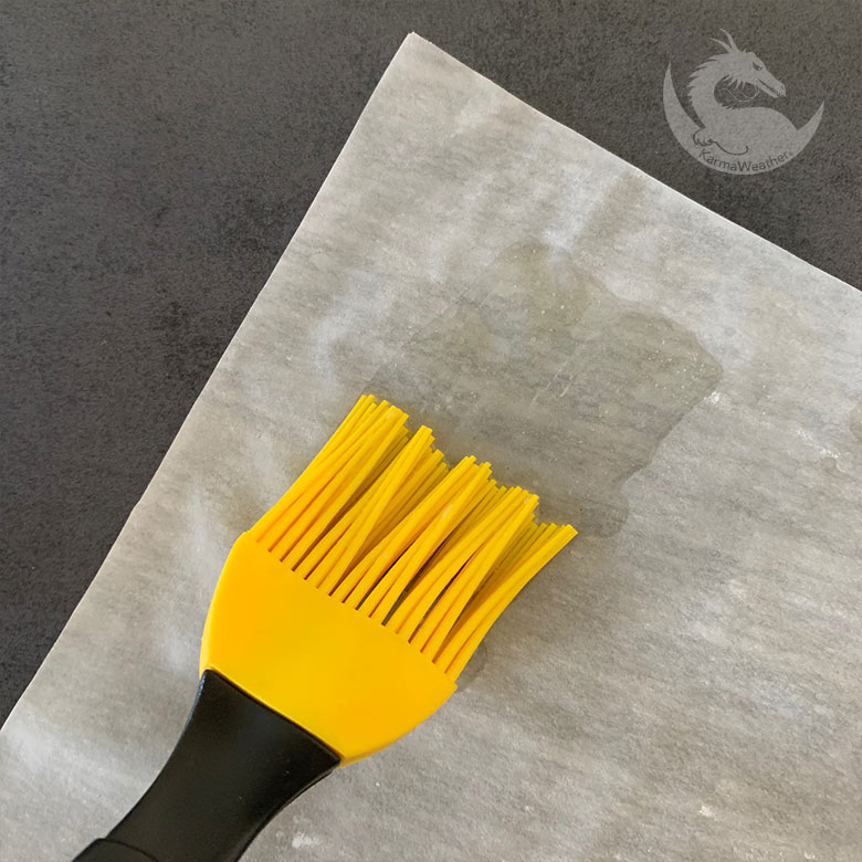
POLYGON ((485 632, 575 535, 538 498, 364 396, 234 544, 197 698, 132 811, 78 862, 230 862, 287 802, 455 691, 485 632))

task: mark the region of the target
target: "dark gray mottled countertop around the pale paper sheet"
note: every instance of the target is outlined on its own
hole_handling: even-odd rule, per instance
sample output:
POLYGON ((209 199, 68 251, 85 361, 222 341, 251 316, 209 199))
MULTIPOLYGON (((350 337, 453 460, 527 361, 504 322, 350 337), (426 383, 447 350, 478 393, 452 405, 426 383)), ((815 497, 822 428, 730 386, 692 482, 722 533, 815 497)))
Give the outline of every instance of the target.
MULTIPOLYGON (((241 4, 0 10, 0 718, 83 595, 417 31, 704 206, 862 284, 855 2, 241 4), (662 80, 728 29, 822 125, 751 177, 695 162, 662 80)), ((684 90, 684 74, 677 92, 684 90)))

